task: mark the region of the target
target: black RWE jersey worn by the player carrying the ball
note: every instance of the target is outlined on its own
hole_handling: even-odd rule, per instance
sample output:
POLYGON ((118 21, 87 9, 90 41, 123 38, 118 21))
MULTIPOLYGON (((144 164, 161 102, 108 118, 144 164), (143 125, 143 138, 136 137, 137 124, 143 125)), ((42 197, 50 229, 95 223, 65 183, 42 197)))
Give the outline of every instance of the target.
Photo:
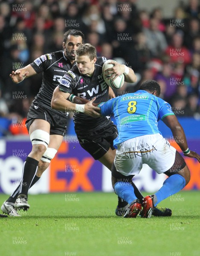
MULTIPOLYGON (((106 58, 98 57, 95 63, 93 76, 81 75, 78 67, 75 65, 64 74, 58 87, 65 93, 73 93, 75 96, 83 99, 93 99, 96 97, 95 103, 106 102, 109 99, 109 87, 103 79, 102 66, 106 58)), ((107 117, 91 117, 84 113, 74 114, 74 123, 76 132, 84 132, 87 134, 90 131, 99 130, 108 125, 110 119, 107 117)))

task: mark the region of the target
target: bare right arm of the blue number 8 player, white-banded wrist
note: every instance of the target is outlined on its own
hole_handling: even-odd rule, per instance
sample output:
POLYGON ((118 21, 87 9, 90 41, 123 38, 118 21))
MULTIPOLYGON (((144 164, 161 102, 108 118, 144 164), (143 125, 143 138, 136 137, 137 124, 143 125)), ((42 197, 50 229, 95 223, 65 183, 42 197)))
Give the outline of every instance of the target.
POLYGON ((171 129, 174 140, 180 146, 183 154, 187 157, 196 158, 200 163, 200 155, 188 149, 186 134, 183 130, 183 127, 180 125, 177 117, 174 115, 165 116, 162 121, 171 129))

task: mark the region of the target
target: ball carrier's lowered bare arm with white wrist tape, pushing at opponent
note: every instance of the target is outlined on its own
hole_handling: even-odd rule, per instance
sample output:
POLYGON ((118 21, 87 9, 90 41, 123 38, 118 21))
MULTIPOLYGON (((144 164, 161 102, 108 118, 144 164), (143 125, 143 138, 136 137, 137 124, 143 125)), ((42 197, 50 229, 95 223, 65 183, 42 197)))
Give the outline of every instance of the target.
POLYGON ((84 113, 88 116, 98 117, 101 116, 98 111, 100 108, 93 106, 92 102, 95 98, 89 101, 87 104, 74 104, 66 99, 70 96, 70 93, 64 93, 59 87, 56 87, 51 101, 52 109, 58 111, 72 111, 75 113, 84 113))

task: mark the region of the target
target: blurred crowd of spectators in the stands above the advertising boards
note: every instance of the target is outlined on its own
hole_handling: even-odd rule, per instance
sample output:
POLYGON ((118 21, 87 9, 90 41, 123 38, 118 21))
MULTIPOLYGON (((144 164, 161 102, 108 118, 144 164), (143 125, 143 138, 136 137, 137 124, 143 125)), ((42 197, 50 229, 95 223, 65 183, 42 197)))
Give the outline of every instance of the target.
POLYGON ((178 2, 172 17, 160 7, 138 9, 137 0, 0 0, 0 134, 17 131, 41 87, 42 74, 14 84, 12 70, 62 49, 68 29, 79 29, 98 56, 131 67, 138 81, 116 96, 155 79, 176 115, 200 119, 200 1, 178 2), (12 125, 11 125, 12 123, 12 125), (19 125, 18 125, 19 127, 19 125))

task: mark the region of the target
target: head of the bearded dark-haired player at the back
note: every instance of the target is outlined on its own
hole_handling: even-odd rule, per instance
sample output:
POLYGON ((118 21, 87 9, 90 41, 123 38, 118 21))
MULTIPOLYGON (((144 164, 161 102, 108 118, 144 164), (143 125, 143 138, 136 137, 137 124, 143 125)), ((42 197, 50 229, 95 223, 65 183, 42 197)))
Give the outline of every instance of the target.
POLYGON ((80 30, 70 29, 64 33, 63 49, 64 55, 70 59, 71 62, 75 61, 75 50, 84 43, 84 34, 80 30))

